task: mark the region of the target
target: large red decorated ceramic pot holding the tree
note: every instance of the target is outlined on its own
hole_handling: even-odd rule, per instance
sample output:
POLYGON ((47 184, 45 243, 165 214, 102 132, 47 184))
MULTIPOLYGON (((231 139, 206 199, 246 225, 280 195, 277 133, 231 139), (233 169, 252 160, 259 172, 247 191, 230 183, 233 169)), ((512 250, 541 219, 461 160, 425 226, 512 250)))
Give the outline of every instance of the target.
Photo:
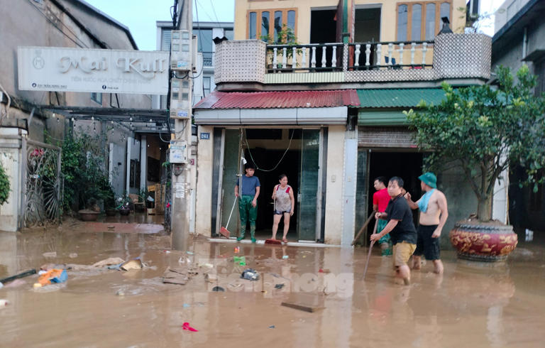
POLYGON ((505 261, 518 243, 513 227, 499 222, 459 221, 450 236, 458 258, 472 261, 505 261))

